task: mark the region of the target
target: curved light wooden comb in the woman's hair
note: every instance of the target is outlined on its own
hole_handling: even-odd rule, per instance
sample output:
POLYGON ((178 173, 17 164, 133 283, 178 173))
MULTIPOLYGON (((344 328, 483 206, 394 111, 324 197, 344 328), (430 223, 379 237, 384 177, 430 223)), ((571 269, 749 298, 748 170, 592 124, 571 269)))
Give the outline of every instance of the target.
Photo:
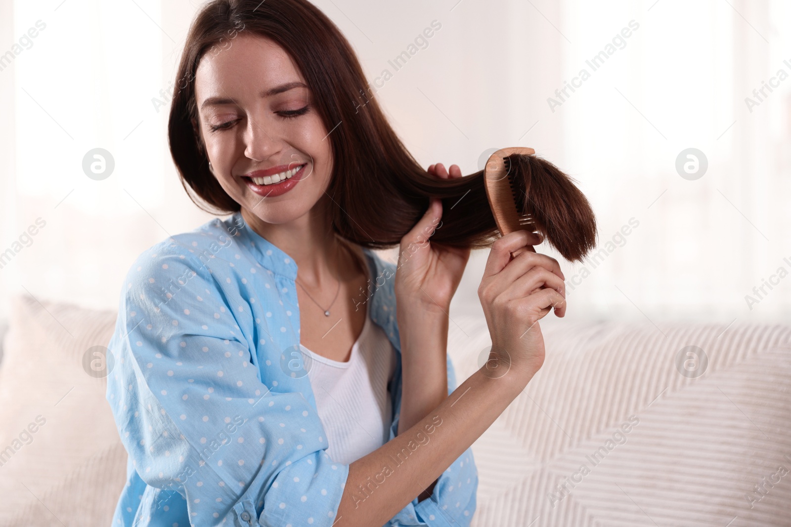
MULTIPOLYGON (((524 193, 527 190, 520 190, 513 179, 514 172, 511 170, 508 157, 511 154, 532 156, 535 153, 536 150, 534 149, 513 146, 507 149, 499 149, 489 156, 489 160, 486 161, 484 170, 486 197, 489 198, 494 222, 503 236, 514 231, 535 232, 536 230, 532 211, 526 210, 524 205, 524 193)), ((524 250, 536 252, 532 245, 528 245, 520 247, 511 254, 516 258, 524 250)))

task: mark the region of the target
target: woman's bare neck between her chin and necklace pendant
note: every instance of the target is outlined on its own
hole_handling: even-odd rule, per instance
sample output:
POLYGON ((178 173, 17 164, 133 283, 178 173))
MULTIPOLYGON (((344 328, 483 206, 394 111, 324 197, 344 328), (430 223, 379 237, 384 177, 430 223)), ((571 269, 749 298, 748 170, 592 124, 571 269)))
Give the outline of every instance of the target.
POLYGON ((320 201, 307 214, 285 224, 269 224, 244 207, 244 221, 258 235, 288 254, 298 267, 297 279, 312 289, 331 288, 351 280, 360 269, 353 255, 332 232, 320 201))

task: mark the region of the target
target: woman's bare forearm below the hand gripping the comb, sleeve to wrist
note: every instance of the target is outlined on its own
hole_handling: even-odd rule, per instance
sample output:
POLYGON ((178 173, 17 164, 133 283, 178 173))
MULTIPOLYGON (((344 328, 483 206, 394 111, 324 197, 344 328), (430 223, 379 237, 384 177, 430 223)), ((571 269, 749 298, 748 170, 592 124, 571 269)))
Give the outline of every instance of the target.
POLYGON ((418 423, 349 466, 337 527, 387 523, 494 423, 534 372, 487 375, 486 366, 475 371, 418 423))

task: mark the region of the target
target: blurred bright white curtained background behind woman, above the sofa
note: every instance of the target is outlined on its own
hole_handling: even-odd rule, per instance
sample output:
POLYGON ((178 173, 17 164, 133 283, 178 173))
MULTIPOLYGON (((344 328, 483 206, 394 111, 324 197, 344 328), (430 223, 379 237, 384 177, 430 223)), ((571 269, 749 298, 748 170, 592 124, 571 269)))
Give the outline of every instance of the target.
MULTIPOLYGON (((315 3, 426 168, 470 174, 491 149, 530 146, 576 179, 599 221, 596 258, 571 265, 539 247, 562 261, 567 319, 788 318, 789 2, 315 3), (388 61, 432 21, 441 28, 396 71, 388 61), (374 85, 383 70, 392 78, 374 85)), ((210 220, 166 139, 198 6, 0 4, 0 317, 14 292, 115 308, 137 254, 210 220), (115 162, 100 181, 82 169, 97 148, 115 162)), ((480 310, 486 254, 454 311, 480 310)))

